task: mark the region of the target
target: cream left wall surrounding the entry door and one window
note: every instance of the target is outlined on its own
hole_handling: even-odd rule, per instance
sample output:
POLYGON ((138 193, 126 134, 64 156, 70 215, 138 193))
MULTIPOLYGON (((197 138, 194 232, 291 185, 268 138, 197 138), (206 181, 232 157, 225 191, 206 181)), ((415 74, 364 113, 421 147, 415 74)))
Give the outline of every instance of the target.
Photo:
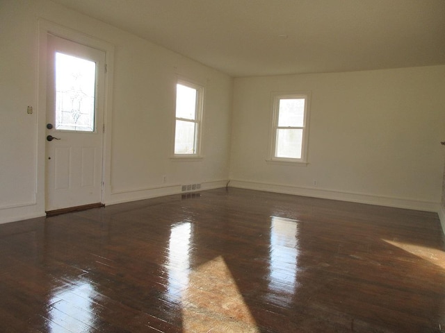
POLYGON ((44 215, 39 19, 114 46, 105 203, 179 193, 179 185, 191 182, 202 182, 203 188, 225 185, 232 78, 50 1, 0 0, 0 223, 44 215), (170 159, 178 75, 206 89, 200 162, 170 159), (26 113, 28 105, 33 114, 26 113))

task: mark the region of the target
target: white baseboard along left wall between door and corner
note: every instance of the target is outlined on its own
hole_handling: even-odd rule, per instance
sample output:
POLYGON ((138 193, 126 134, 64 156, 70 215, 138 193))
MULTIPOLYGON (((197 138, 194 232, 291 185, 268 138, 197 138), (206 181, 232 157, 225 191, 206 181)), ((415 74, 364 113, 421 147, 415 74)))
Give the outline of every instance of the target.
MULTIPOLYGON (((229 182, 229 180, 213 180, 208 182, 200 182, 201 188, 193 190, 193 192, 226 187, 227 182, 229 182)), ((158 187, 147 187, 143 189, 126 189, 120 191, 114 190, 108 200, 106 200, 105 205, 115 205, 118 203, 128 203, 130 201, 145 200, 149 198, 157 198, 159 196, 170 196, 173 194, 190 192, 182 191, 181 187, 182 185, 161 185, 158 187)))

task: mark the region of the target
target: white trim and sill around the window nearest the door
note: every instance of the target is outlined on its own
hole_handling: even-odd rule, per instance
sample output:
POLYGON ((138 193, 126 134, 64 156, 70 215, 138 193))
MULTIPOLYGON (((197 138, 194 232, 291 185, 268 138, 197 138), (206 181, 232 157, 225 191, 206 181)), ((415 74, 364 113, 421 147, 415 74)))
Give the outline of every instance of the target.
POLYGON ((192 80, 186 78, 177 78, 175 82, 175 108, 173 109, 173 131, 172 131, 172 155, 170 159, 175 162, 197 162, 202 161, 202 124, 203 124, 203 114, 204 114, 204 91, 205 88, 199 83, 194 83, 192 80), (190 119, 182 119, 176 117, 176 93, 177 84, 185 85, 186 87, 191 87, 197 90, 197 105, 196 105, 196 120, 197 123, 197 133, 195 133, 197 144, 196 153, 194 154, 176 154, 175 153, 175 135, 176 135, 176 121, 190 121, 190 119))

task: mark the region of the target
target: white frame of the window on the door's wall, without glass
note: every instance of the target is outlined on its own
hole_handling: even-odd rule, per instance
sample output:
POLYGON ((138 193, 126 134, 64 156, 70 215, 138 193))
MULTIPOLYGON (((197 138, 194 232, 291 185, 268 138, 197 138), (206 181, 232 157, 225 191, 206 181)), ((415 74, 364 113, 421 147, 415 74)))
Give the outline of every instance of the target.
POLYGON ((191 80, 184 78, 178 78, 175 82, 175 108, 174 113, 174 123, 173 123, 173 135, 172 135, 172 158, 181 161, 195 161, 202 160, 201 148, 202 148, 202 114, 204 112, 204 86, 198 83, 194 83, 191 80), (184 85, 196 90, 196 105, 195 105, 195 119, 186 119, 177 117, 176 115, 176 105, 177 105, 177 85, 184 85), (195 153, 193 154, 178 154, 175 153, 175 138, 176 138, 176 124, 177 121, 187 121, 190 123, 195 123, 195 153))

